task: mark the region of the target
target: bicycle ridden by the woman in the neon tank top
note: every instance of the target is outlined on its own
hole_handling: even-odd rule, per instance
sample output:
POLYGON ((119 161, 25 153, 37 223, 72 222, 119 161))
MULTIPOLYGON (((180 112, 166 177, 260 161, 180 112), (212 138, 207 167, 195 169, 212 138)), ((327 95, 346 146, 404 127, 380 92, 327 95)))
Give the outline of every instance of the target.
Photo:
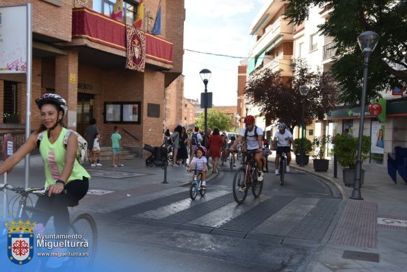
MULTIPOLYGON (((47 195, 48 192, 44 190, 44 188, 25 189, 22 187, 12 187, 10 184, 0 184, 0 191, 4 190, 12 190, 17 194, 8 201, 8 217, 14 221, 18 221, 19 219, 27 221, 31 218, 33 212, 51 214, 51 212, 47 210, 35 208, 30 197, 30 195, 37 195, 38 197, 47 195), (29 202, 29 204, 27 204, 27 202, 29 202), (18 204, 18 206, 16 206, 16 204, 18 204)), ((75 203, 70 207, 75 207, 77 205, 78 203, 75 203)), ((75 235, 75 237, 81 237, 79 242, 88 242, 89 246, 73 248, 71 252, 75 251, 83 257, 68 258, 68 260, 64 262, 64 267, 69 268, 71 271, 90 271, 96 256, 97 247, 97 227, 92 215, 81 213, 73 217, 69 222, 68 234, 75 235), (84 257, 85 255, 88 256, 84 257)), ((48 268, 46 267, 47 262, 42 262, 42 260, 45 259, 36 258, 36 260, 38 260, 39 263, 39 271, 48 271, 48 268)))

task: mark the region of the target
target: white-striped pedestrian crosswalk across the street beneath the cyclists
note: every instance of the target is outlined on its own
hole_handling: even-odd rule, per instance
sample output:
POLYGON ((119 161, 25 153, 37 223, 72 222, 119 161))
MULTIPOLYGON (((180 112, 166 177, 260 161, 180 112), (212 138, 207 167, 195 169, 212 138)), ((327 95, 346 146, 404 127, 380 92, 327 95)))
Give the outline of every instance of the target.
MULTIPOLYGON (((161 194, 162 195, 162 194, 161 194)), ((285 193, 248 197, 237 205, 228 190, 208 190, 205 197, 192 200, 187 191, 161 199, 138 202, 126 208, 135 223, 155 224, 180 229, 226 233, 239 237, 276 236, 320 241, 341 199, 335 197, 300 197, 285 193), (249 234, 249 235, 248 235, 249 234)), ((120 212, 120 211, 119 211, 120 212)))

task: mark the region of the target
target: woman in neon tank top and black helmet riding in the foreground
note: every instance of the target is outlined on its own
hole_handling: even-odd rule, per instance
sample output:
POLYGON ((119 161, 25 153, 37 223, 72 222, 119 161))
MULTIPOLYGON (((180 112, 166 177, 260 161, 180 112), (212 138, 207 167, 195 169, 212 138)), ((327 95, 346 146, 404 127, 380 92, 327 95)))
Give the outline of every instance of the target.
MULTIPOLYGON (((47 212, 34 212, 31 220, 37 222, 34 231, 43 230, 44 225, 54 217, 55 233, 67 234, 69 229, 68 206, 77 203, 88 193, 90 175, 77 160, 78 136, 70 133, 62 123, 68 113, 65 99, 60 95, 47 93, 36 99, 41 114, 41 126, 29 136, 25 143, 0 165, 0 174, 12 171, 25 155, 36 147, 40 149, 44 163, 44 188, 47 195, 38 197, 36 208, 47 212), (42 138, 38 138, 39 135, 42 138), (64 138, 68 134, 66 145, 64 138), (40 144, 40 145, 39 145, 40 144)), ((83 139, 83 138, 82 138, 83 139)), ((58 248, 66 251, 66 248, 58 248)), ((65 258, 50 258, 47 267, 57 268, 65 258)))

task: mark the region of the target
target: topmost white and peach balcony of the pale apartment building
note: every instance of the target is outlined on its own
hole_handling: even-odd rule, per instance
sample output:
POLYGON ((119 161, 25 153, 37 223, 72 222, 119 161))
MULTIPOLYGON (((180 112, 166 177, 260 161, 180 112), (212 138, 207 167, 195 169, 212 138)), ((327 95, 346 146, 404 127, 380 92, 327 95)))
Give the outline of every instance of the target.
POLYGON ((293 25, 289 23, 289 20, 285 20, 284 16, 280 16, 277 20, 268 25, 265 29, 265 33, 252 49, 252 55, 259 55, 270 42, 276 40, 278 37, 283 36, 281 40, 293 40, 293 25))

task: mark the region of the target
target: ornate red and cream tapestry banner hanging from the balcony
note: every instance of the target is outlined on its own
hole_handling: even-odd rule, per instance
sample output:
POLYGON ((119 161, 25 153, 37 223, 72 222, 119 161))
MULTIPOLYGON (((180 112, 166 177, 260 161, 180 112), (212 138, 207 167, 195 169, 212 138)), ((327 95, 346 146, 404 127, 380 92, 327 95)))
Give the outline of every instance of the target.
POLYGON ((126 68, 144 72, 146 66, 146 34, 132 25, 126 25, 126 68))

